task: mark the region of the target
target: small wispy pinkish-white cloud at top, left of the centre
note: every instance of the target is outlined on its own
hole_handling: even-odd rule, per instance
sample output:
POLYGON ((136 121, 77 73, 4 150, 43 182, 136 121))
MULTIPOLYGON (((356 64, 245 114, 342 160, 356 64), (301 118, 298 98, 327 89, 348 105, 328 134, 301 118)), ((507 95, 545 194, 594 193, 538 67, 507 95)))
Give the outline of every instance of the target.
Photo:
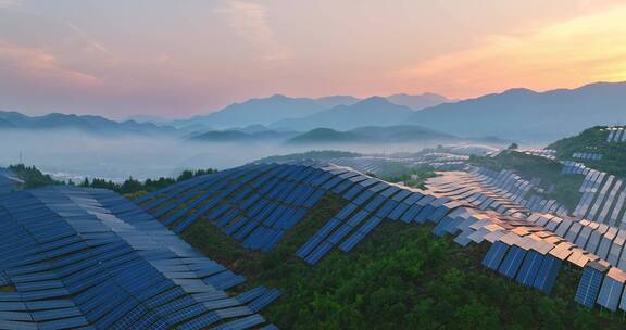
POLYGON ((230 27, 262 53, 263 61, 289 58, 289 49, 275 39, 265 7, 249 1, 227 1, 215 11, 228 17, 230 27))

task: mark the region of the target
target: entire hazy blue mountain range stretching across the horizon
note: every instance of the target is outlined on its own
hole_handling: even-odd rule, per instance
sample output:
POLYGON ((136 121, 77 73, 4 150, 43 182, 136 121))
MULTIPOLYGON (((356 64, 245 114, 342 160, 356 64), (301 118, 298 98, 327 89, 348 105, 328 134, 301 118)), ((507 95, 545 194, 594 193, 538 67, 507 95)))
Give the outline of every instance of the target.
MULTIPOLYGON (((546 92, 511 89, 463 101, 430 93, 364 100, 347 96, 311 99, 276 94, 235 103, 215 113, 184 120, 166 122, 150 116, 134 118, 141 123, 114 122, 100 116, 54 113, 32 117, 16 112, 0 112, 0 129, 166 134, 218 141, 296 138, 295 131, 315 128, 348 132, 365 126, 409 125, 464 138, 547 142, 593 125, 626 123, 626 82, 598 82, 546 92), (201 134, 206 135, 200 137, 201 134)), ((329 130, 325 132, 331 135, 329 140, 339 139, 329 130)), ((340 136, 340 139, 352 139, 349 135, 340 136)))

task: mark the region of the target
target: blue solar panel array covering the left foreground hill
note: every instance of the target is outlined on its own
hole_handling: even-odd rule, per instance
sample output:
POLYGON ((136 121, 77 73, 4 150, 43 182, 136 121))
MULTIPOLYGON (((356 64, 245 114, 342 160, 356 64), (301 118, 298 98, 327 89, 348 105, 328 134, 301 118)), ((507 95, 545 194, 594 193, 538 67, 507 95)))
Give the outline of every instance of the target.
POLYGON ((99 189, 0 198, 0 329, 245 329, 279 291, 245 279, 99 189))

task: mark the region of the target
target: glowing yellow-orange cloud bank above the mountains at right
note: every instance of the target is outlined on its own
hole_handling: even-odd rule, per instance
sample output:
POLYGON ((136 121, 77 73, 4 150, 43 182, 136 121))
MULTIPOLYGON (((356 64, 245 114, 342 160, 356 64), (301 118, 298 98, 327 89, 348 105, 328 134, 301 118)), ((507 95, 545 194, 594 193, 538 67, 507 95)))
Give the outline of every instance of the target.
POLYGON ((551 89, 626 79, 626 5, 477 46, 395 72, 403 84, 428 84, 461 97, 502 87, 551 89))

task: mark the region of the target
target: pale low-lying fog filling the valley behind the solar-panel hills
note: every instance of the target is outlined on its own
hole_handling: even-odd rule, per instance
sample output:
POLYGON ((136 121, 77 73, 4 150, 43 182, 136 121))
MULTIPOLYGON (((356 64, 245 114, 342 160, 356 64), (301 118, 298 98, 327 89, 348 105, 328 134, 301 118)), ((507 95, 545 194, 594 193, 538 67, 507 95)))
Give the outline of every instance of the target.
POLYGON ((277 154, 310 150, 345 150, 388 154, 417 152, 428 144, 287 145, 280 142, 206 143, 174 138, 101 137, 76 131, 0 132, 0 165, 22 162, 57 178, 84 177, 115 181, 176 176, 186 168, 225 169, 277 154))

